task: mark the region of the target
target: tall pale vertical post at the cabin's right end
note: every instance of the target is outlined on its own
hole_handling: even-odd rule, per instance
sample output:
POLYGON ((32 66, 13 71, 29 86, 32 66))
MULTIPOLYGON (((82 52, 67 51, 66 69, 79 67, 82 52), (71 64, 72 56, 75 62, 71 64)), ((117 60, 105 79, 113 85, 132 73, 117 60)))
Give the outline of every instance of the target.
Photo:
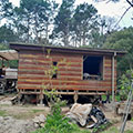
POLYGON ((115 102, 115 95, 114 95, 114 58, 116 55, 116 52, 114 52, 112 57, 112 103, 115 102))

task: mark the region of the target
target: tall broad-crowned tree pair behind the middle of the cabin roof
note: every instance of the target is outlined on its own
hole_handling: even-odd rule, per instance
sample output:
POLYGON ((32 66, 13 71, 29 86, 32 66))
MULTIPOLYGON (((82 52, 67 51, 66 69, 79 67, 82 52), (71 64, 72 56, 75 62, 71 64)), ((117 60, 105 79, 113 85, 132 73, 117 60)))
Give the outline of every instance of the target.
POLYGON ((51 38, 58 39, 55 42, 64 47, 89 45, 93 40, 91 31, 98 28, 98 10, 85 2, 75 9, 73 6, 74 0, 63 0, 54 18, 55 27, 51 38))

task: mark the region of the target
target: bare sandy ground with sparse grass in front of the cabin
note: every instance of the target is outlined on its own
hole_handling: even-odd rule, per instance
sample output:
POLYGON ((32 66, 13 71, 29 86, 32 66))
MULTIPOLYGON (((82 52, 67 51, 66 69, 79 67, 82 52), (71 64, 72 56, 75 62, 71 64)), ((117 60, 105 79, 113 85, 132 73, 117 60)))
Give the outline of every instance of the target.
MULTIPOLYGON (((31 104, 12 105, 10 96, 4 98, 0 95, 0 133, 30 133, 35 131, 32 119, 39 114, 47 115, 50 112, 48 106, 37 106, 31 104)), ((113 126, 120 129, 122 124, 122 116, 115 115, 111 105, 102 106, 106 119, 113 122, 113 126)), ((68 112, 69 108, 63 108, 63 112, 68 112)), ((133 121, 127 121, 125 131, 133 131, 133 121)))

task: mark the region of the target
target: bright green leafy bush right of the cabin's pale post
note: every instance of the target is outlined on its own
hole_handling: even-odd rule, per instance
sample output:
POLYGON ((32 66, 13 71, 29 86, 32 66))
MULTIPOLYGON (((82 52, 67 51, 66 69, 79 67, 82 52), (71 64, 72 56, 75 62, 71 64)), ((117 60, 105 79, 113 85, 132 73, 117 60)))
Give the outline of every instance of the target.
POLYGON ((133 78, 133 70, 127 70, 125 74, 119 80, 119 94, 121 100, 127 99, 129 91, 131 89, 131 82, 133 78))

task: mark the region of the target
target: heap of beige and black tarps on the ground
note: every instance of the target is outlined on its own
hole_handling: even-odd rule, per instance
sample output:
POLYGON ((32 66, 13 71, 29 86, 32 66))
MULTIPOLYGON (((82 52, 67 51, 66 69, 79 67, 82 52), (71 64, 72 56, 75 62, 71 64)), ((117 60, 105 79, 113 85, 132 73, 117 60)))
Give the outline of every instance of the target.
POLYGON ((86 127, 98 127, 101 124, 108 123, 103 112, 99 108, 92 106, 92 104, 74 103, 70 112, 66 113, 66 117, 86 127), (92 122, 93 124, 90 125, 92 122))

